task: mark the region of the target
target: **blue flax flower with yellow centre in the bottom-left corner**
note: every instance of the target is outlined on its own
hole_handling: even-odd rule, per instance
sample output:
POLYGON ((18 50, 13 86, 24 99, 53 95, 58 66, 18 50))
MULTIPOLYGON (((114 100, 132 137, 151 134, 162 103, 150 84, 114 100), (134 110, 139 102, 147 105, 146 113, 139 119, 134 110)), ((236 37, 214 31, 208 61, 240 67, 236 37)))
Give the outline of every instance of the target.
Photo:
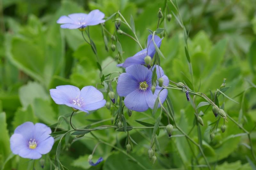
POLYGON ((39 159, 51 151, 52 130, 43 123, 25 122, 14 130, 10 139, 11 150, 22 158, 39 159))

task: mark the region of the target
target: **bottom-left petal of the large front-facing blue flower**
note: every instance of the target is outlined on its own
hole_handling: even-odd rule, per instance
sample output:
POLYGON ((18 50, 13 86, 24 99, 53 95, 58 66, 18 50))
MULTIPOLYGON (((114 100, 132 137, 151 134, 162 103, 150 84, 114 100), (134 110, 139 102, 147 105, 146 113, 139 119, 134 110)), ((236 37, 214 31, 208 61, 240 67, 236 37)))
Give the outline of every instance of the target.
POLYGON ((131 110, 137 112, 144 112, 148 110, 148 104, 146 102, 146 93, 140 90, 136 90, 128 94, 124 99, 124 105, 131 110))

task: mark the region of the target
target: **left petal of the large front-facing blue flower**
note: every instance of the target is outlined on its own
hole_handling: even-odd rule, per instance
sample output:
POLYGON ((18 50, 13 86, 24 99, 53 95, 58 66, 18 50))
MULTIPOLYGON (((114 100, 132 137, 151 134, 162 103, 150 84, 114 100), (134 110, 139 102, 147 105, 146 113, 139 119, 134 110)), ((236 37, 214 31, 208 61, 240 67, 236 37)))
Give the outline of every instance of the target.
POLYGON ((129 73, 122 73, 117 82, 117 93, 119 96, 127 96, 139 88, 139 82, 129 73))

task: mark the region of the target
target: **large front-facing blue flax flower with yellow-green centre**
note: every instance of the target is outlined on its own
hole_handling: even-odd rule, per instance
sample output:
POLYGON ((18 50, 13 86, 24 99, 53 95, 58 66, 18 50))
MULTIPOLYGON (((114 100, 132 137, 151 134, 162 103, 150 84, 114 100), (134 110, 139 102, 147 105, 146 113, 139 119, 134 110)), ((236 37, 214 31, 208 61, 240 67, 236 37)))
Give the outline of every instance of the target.
MULTIPOLYGON (((157 78, 164 79, 164 86, 169 84, 169 79, 164 75, 163 69, 156 65, 157 78), (161 76, 160 76, 161 75, 161 76)), ((152 68, 152 70, 154 69, 152 68)), ((153 94, 151 91, 152 70, 147 67, 136 64, 125 69, 126 73, 122 73, 118 78, 117 93, 119 96, 125 97, 124 104, 128 109, 137 112, 143 112, 150 107, 153 109, 158 93, 162 87, 156 86, 156 91, 153 94)), ((160 92, 160 100, 163 103, 168 94, 167 89, 160 92)), ((160 107, 160 104, 159 106, 160 107)))

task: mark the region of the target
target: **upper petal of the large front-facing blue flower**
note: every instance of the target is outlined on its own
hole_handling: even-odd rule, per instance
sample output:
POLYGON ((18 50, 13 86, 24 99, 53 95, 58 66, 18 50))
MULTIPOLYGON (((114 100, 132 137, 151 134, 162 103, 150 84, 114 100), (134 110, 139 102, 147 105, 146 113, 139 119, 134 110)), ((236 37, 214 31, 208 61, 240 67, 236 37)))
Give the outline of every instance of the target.
POLYGON ((140 64, 131 65, 127 67, 125 71, 131 74, 139 83, 143 81, 148 82, 152 77, 151 70, 140 64))

